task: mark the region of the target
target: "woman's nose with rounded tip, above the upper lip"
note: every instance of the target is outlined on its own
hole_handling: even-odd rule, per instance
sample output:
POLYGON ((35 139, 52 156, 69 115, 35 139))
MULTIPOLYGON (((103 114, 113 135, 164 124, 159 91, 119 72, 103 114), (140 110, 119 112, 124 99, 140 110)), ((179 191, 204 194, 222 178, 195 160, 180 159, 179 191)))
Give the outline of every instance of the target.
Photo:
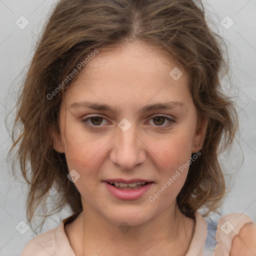
POLYGON ((136 134, 136 125, 124 131, 117 127, 113 138, 113 147, 110 153, 110 160, 119 165, 122 169, 130 170, 146 159, 146 145, 141 135, 136 134))

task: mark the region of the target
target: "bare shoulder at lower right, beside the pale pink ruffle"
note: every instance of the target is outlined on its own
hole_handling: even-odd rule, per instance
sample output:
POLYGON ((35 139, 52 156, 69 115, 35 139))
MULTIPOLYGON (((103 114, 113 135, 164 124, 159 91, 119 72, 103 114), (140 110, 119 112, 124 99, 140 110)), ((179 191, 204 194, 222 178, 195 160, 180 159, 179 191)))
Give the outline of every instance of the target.
POLYGON ((256 224, 246 223, 232 239, 230 256, 256 254, 256 224))

